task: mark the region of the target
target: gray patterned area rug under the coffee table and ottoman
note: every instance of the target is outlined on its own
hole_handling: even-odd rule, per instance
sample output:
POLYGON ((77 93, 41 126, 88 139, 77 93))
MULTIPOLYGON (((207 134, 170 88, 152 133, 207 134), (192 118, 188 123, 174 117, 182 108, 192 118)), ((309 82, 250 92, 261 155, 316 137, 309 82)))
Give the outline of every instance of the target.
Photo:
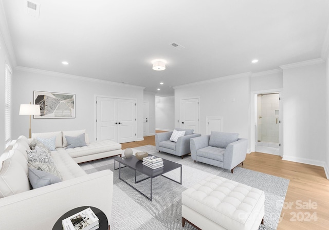
MULTIPOLYGON (((194 163, 190 156, 181 159, 158 152, 153 145, 141 146, 133 151, 134 154, 137 151, 145 151, 182 164, 182 185, 164 177, 153 179, 153 201, 151 202, 119 179, 119 170, 114 170, 113 158, 80 164, 88 174, 104 169, 114 171, 111 230, 195 229, 189 223, 186 223, 184 228, 181 226, 181 193, 210 174, 265 191, 265 224, 261 224, 259 229, 277 229, 289 180, 242 167, 235 168, 234 174, 231 174, 230 170, 199 162, 194 163)), ((116 166, 118 167, 118 163, 116 166)), ((165 176, 179 181, 180 169, 170 171, 165 176)), ((122 168, 121 177, 131 182, 130 184, 134 184, 135 171, 128 167, 122 168)), ((137 177, 142 179, 144 175, 137 174, 137 177)), ((150 180, 138 183, 137 188, 149 196, 150 180)))

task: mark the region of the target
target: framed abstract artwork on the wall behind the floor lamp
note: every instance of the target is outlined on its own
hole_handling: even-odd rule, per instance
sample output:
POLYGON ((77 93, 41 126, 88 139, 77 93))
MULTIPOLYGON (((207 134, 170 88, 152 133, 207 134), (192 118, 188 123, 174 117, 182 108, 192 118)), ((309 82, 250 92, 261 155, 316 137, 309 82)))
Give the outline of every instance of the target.
POLYGON ((34 91, 35 105, 40 105, 40 115, 34 118, 75 118, 76 94, 34 91))

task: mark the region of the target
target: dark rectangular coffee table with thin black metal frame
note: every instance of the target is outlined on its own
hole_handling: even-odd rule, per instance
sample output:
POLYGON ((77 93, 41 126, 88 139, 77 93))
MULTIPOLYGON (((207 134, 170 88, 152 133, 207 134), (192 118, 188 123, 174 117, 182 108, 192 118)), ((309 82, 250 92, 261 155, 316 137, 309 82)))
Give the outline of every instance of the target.
MULTIPOLYGON (((149 155, 149 156, 152 156, 152 155, 149 155)), ((139 161, 135 156, 132 156, 131 158, 124 158, 124 157, 119 157, 119 156, 114 157, 114 169, 115 170, 119 169, 119 179, 122 180, 127 185, 134 188, 136 191, 138 191, 138 193, 140 193, 144 197, 148 198, 150 201, 152 201, 152 180, 153 180, 153 178, 158 177, 158 176, 162 176, 162 177, 168 178, 169 180, 172 180, 172 181, 174 181, 178 184, 181 184, 181 164, 163 159, 163 167, 162 168, 151 169, 147 166, 144 166, 142 163, 143 163, 143 161, 139 161), (119 162, 119 168, 116 168, 116 164, 115 164, 116 161, 119 162), (135 184, 137 184, 138 182, 141 182, 141 181, 144 181, 144 180, 147 180, 147 179, 151 178, 151 196, 150 197, 143 194, 140 190, 138 190, 137 188, 135 188, 134 186, 132 186, 131 184, 129 184, 128 182, 126 182, 125 180, 123 180, 121 178, 121 168, 123 168, 123 167, 121 167, 121 164, 135 170, 135 184), (163 176, 163 174, 165 174, 166 172, 169 172, 169 171, 174 170, 174 169, 179 168, 179 167, 180 167, 180 182, 175 181, 175 180, 173 180, 169 177, 163 176), (144 179, 141 179, 141 180, 137 180, 136 179, 137 171, 139 171, 141 174, 144 174, 148 177, 144 178, 144 179)))

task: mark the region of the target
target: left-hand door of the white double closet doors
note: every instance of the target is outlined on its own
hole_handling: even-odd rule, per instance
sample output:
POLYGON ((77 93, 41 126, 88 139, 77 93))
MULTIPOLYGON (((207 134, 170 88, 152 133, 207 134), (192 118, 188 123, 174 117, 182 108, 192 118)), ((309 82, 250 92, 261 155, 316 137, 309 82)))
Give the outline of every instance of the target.
POLYGON ((97 97, 96 140, 118 142, 118 102, 113 98, 97 97))

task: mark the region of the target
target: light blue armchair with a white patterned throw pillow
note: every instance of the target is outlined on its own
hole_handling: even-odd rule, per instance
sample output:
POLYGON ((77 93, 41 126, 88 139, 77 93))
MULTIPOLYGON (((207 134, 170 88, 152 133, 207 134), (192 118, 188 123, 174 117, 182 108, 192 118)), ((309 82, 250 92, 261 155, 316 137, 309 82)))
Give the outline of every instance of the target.
POLYGON ((158 132, 155 133, 155 147, 159 151, 167 152, 168 154, 173 154, 184 158, 185 155, 188 155, 190 150, 190 139, 195 137, 200 137, 199 133, 193 133, 193 129, 182 129, 175 128, 177 131, 184 131, 185 136, 179 137, 177 142, 170 141, 172 135, 171 132, 158 132))

